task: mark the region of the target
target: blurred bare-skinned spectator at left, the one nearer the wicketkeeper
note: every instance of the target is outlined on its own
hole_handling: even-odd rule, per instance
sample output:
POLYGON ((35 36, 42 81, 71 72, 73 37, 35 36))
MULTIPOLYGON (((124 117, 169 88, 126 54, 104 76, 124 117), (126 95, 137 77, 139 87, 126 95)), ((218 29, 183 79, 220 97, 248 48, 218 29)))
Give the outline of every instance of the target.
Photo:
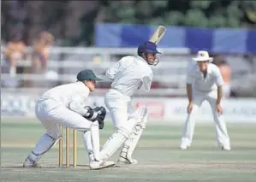
POLYGON ((53 44, 54 37, 50 32, 40 32, 33 45, 33 73, 45 73, 48 65, 49 50, 53 44), (40 64, 40 67, 39 67, 40 64))

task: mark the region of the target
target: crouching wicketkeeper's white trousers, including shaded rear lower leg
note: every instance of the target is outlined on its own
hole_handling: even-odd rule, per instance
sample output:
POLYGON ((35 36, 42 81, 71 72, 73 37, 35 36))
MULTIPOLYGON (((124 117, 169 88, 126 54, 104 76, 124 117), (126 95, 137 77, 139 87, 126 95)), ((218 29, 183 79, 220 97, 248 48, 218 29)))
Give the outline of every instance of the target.
POLYGON ((46 129, 33 149, 35 156, 44 154, 57 143, 61 136, 60 124, 79 131, 90 130, 92 126, 92 121, 51 99, 39 100, 35 114, 46 129))

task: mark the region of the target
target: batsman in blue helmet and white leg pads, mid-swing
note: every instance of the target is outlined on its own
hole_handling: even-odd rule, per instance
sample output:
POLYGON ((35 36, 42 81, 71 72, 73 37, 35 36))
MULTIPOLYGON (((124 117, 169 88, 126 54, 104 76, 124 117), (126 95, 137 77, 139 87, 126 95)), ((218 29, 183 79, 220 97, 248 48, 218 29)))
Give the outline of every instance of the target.
POLYGON ((150 91, 153 78, 150 66, 158 64, 157 54, 157 44, 146 41, 138 47, 138 56, 124 56, 106 71, 106 76, 113 81, 104 103, 110 110, 116 132, 100 151, 102 160, 107 160, 123 144, 118 163, 137 163, 132 154, 146 127, 148 114, 146 108, 134 109, 132 97, 140 89, 150 91))

